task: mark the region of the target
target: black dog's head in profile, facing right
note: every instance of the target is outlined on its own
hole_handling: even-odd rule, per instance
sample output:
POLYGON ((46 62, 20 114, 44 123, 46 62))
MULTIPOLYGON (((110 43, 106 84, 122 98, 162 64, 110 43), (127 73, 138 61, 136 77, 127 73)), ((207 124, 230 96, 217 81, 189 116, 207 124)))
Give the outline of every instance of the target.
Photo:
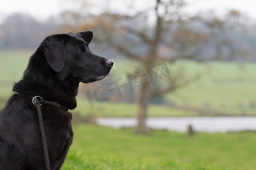
POLYGON ((44 39, 40 49, 61 80, 95 82, 108 76, 113 61, 90 51, 88 45, 92 38, 90 31, 51 35, 44 39))

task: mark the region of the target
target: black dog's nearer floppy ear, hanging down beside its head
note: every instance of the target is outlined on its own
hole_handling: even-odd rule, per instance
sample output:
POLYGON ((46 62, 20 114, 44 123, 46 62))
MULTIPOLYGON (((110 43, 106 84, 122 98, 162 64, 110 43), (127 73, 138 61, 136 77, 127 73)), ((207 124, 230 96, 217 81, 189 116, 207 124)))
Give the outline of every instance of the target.
POLYGON ((48 65, 56 72, 60 72, 64 67, 65 37, 64 34, 48 36, 40 45, 48 65))

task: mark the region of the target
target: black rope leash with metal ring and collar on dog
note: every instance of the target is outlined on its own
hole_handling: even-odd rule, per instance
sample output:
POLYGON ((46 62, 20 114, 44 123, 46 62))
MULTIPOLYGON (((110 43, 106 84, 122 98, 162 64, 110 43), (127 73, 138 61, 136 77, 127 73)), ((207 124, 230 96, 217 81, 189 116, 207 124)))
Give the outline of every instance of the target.
POLYGON ((41 105, 42 104, 49 105, 51 107, 64 109, 65 111, 68 111, 68 108, 65 107, 64 105, 59 104, 59 103, 54 103, 54 102, 51 102, 51 101, 43 100, 42 97, 40 97, 40 96, 35 96, 32 99, 32 103, 36 106, 36 110, 38 111, 38 120, 39 120, 42 143, 43 143, 44 160, 46 162, 46 169, 51 170, 51 166, 50 166, 50 163, 49 163, 48 148, 47 148, 47 143, 46 143, 46 134, 44 133, 44 122, 43 122, 41 105))

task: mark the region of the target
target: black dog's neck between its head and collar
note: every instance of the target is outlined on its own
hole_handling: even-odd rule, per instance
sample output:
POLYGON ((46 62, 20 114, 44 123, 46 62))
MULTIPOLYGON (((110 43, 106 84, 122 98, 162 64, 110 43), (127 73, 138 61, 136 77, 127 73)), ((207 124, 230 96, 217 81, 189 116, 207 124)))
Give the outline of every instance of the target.
POLYGON ((45 100, 65 105, 68 109, 75 109, 78 88, 79 82, 76 80, 57 78, 48 66, 42 50, 38 48, 31 56, 22 79, 14 84, 13 91, 29 98, 41 96, 45 100))

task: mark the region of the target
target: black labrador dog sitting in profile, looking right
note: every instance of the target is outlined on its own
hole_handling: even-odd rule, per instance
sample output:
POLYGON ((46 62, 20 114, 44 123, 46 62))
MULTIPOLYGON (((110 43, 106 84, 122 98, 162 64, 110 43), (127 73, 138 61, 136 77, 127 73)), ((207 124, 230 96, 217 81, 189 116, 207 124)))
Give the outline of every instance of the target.
MULTIPOLYGON (((79 83, 104 79, 113 61, 88 48, 90 31, 51 35, 32 54, 23 78, 0 112, 0 169, 46 169, 34 96, 76 108, 79 83)), ((60 169, 72 143, 72 114, 42 105, 51 169, 60 169)))

